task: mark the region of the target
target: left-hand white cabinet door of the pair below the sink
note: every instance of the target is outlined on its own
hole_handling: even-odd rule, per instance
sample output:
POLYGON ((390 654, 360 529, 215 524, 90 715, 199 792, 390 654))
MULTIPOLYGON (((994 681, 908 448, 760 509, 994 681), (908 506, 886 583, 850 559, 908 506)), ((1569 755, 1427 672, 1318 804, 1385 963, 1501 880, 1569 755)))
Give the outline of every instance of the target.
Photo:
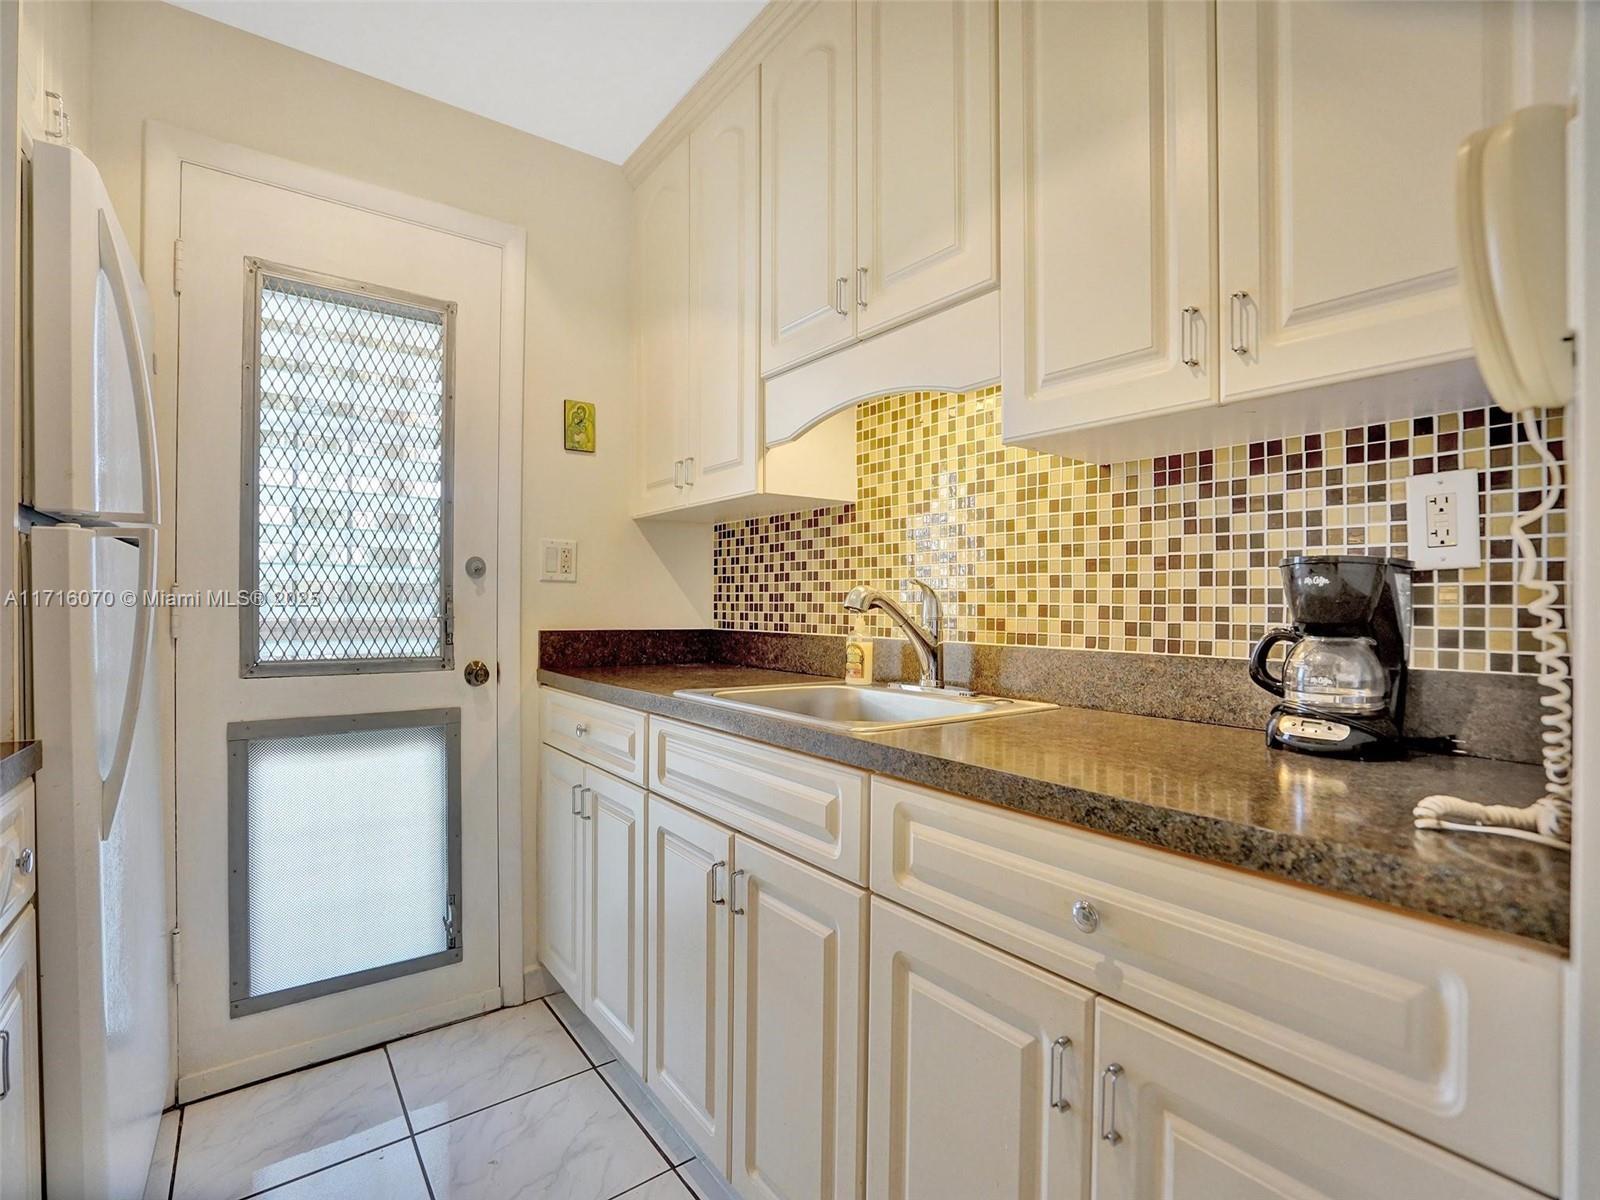
POLYGON ((728 1171, 725 898, 733 835, 669 800, 650 800, 646 1082, 723 1174, 728 1171), (722 899, 722 902, 714 902, 722 899))

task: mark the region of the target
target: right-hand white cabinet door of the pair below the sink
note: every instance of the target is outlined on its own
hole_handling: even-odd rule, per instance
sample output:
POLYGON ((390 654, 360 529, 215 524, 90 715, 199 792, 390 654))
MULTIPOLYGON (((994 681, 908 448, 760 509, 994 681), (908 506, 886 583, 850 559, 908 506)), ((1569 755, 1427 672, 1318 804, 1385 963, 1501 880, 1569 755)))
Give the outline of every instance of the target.
POLYGON ((867 893, 742 837, 734 866, 733 1184, 854 1200, 867 893))

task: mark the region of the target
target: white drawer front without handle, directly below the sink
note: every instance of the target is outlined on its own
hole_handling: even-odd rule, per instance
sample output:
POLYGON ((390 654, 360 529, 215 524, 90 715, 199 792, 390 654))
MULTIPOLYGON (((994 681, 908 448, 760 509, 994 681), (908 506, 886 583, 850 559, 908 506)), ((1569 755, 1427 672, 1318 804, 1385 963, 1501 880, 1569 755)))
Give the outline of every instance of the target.
POLYGON ((867 773, 651 717, 650 790, 867 882, 867 773))

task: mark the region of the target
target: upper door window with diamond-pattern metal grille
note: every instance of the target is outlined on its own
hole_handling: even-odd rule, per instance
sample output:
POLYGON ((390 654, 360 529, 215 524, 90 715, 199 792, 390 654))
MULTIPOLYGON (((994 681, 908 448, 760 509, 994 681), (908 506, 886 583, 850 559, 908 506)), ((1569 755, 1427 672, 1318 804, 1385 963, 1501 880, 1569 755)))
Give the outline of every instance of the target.
POLYGON ((451 667, 454 306, 246 272, 242 672, 451 667))

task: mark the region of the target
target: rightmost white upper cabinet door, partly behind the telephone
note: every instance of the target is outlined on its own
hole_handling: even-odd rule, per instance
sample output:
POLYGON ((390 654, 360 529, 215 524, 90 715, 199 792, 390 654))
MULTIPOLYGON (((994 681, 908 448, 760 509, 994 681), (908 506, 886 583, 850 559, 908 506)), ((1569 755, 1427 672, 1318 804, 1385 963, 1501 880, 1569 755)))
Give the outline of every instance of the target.
POLYGON ((1514 43, 1498 3, 1218 6, 1226 400, 1470 352, 1456 147, 1514 43))

